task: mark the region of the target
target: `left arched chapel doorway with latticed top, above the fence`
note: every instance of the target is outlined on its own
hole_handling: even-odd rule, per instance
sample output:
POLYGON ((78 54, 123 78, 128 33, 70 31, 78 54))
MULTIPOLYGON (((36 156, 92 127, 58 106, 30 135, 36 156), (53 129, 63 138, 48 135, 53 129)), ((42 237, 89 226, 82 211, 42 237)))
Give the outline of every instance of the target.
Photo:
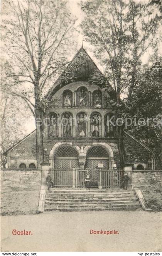
POLYGON ((78 152, 69 145, 62 145, 54 153, 55 169, 79 168, 78 152))

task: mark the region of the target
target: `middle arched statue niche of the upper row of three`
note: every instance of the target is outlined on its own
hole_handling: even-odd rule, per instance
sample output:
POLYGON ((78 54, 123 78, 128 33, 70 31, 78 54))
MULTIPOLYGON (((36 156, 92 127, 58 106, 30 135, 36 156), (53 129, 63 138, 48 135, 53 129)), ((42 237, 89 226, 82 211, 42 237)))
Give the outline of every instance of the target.
POLYGON ((87 107, 89 105, 88 89, 85 86, 81 86, 77 89, 77 107, 87 107))

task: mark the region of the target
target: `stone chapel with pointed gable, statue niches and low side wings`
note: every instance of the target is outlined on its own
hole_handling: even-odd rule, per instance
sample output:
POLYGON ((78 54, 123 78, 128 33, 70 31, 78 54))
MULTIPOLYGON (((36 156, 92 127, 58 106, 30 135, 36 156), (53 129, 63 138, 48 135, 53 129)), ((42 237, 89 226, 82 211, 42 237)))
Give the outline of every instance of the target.
MULTIPOLYGON (((107 122, 113 115, 111 105, 107 105, 100 84, 89 82, 92 72, 101 72, 83 47, 71 64, 75 66, 80 57, 87 60, 80 75, 70 82, 61 75, 44 98, 50 102, 44 111, 48 124, 44 125, 44 161, 50 163, 51 169, 59 170, 120 169, 117 140, 107 122)), ((64 74, 68 69, 69 65, 64 74)), ((7 168, 37 167, 35 134, 31 132, 5 152, 7 168)), ((152 168, 154 152, 128 132, 124 140, 126 165, 134 170, 152 168)))

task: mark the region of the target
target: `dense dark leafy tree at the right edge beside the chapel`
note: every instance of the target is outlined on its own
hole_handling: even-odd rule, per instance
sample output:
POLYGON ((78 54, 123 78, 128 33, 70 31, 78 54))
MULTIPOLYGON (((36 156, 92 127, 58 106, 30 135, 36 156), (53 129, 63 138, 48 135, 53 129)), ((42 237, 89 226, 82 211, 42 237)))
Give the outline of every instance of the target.
MULTIPOLYGON (((162 58, 154 56, 151 65, 146 65, 140 83, 133 89, 130 101, 134 102, 132 117, 140 124, 131 125, 129 132, 156 153, 159 167, 161 153, 161 113, 162 113, 162 58)), ((161 162, 161 163, 160 163, 161 162)))

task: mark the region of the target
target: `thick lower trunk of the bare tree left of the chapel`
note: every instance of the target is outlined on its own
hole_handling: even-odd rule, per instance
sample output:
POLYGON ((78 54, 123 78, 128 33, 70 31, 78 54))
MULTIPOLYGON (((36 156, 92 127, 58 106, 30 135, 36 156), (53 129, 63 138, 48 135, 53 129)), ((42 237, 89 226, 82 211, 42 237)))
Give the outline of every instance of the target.
POLYGON ((37 168, 44 163, 42 110, 35 109, 37 168))

